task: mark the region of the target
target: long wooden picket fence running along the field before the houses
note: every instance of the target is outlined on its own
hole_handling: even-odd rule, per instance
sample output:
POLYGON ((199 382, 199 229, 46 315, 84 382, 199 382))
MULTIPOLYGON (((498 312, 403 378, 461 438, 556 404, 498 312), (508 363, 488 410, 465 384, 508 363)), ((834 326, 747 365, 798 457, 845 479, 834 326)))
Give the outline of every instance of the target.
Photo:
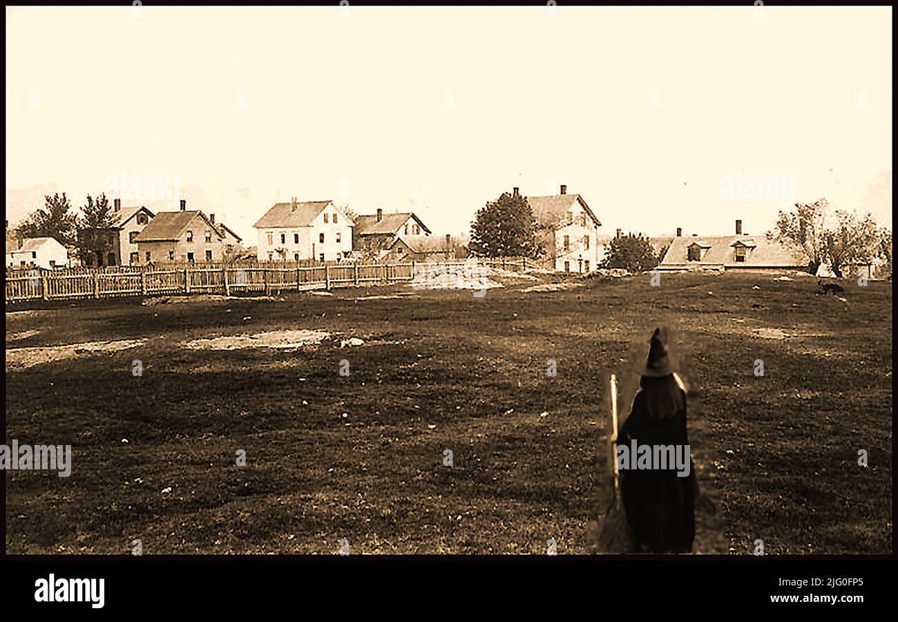
MULTIPOLYGON (((465 262, 428 262, 453 266, 465 262)), ((508 269, 526 269, 522 260, 480 262, 508 269)), ((419 263, 419 265, 424 265, 419 263)), ((389 284, 410 281, 415 262, 398 264, 321 265, 316 267, 251 267, 239 264, 216 267, 165 267, 163 269, 109 271, 102 268, 74 270, 23 270, 6 272, 6 302, 27 300, 76 300, 160 295, 242 294, 265 295, 304 289, 389 284)))

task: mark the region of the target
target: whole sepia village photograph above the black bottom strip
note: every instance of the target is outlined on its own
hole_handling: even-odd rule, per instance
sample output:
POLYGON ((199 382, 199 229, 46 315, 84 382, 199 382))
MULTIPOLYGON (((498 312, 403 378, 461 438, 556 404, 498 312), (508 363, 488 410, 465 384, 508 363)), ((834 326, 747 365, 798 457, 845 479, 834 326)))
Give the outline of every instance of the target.
POLYGON ((893 559, 892 15, 7 6, 16 597, 893 559))

